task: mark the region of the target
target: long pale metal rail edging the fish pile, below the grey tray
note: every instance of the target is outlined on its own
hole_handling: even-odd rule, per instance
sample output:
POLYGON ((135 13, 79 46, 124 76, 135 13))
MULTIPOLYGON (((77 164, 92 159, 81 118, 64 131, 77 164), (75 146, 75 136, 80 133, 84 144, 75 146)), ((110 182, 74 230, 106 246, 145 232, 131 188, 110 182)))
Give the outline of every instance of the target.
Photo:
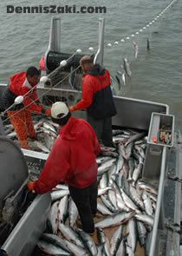
POLYGON ((152 236, 149 256, 156 255, 155 254, 155 244, 156 244, 157 232, 158 232, 161 200, 162 200, 162 196, 163 196, 163 192, 164 192, 164 180, 165 180, 165 174, 166 174, 165 171, 166 171, 166 147, 163 148, 163 152, 162 152, 162 162, 161 162, 161 169, 160 169, 160 176, 159 176, 158 200, 157 200, 157 206, 156 206, 154 223, 153 223, 153 236, 152 236))

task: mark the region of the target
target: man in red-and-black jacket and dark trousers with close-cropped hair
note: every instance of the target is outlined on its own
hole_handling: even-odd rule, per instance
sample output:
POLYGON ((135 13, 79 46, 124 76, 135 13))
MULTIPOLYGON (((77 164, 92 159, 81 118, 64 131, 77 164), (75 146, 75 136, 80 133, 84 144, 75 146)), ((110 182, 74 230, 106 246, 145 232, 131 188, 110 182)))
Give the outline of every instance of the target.
POLYGON ((112 116, 116 114, 114 99, 110 88, 110 75, 93 62, 92 57, 83 56, 80 61, 83 74, 81 83, 82 98, 70 111, 87 108, 88 122, 104 146, 114 147, 112 140, 112 116))

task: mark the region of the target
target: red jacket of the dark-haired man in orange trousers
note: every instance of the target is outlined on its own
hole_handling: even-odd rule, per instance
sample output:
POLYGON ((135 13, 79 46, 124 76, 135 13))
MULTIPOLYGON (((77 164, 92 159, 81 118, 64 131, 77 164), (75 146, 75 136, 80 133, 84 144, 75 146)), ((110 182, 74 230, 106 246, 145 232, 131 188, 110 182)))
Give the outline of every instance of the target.
MULTIPOLYGON (((26 78, 26 72, 19 72, 14 75, 10 75, 10 82, 9 82, 9 89, 10 91, 19 96, 19 95, 25 95, 30 89, 32 89, 29 94, 27 94, 24 97, 23 100, 23 105, 27 106, 29 103, 35 101, 37 99, 37 94, 36 94, 36 84, 33 84, 31 86, 26 78), (32 87, 34 89, 32 89, 32 87)), ((39 101, 36 101, 36 103, 32 103, 27 107, 27 109, 35 112, 41 112, 42 110, 42 105, 37 106, 37 104, 40 103, 39 101)))

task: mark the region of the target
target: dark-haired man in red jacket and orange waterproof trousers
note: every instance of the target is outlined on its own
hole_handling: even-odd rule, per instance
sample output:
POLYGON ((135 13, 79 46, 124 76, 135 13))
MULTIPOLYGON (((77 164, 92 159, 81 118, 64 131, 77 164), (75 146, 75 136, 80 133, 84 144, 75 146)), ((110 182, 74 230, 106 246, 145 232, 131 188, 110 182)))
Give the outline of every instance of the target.
POLYGON ((32 139, 36 138, 30 111, 50 115, 50 109, 45 110, 37 100, 36 84, 39 81, 39 76, 40 73, 35 67, 29 67, 27 72, 19 72, 11 75, 7 89, 3 91, 2 99, 4 109, 10 108, 14 104, 17 96, 26 94, 22 103, 12 106, 7 111, 10 122, 16 130, 21 148, 29 148, 27 136, 32 139))

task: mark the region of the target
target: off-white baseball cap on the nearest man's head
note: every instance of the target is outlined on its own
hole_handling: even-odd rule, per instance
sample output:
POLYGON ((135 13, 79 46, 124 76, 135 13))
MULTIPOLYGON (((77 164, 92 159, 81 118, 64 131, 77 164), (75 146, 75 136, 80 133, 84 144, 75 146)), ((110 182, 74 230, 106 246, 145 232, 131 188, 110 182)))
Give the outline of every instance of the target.
POLYGON ((51 108, 51 116, 55 119, 62 119, 68 115, 68 107, 64 102, 55 102, 51 108))

